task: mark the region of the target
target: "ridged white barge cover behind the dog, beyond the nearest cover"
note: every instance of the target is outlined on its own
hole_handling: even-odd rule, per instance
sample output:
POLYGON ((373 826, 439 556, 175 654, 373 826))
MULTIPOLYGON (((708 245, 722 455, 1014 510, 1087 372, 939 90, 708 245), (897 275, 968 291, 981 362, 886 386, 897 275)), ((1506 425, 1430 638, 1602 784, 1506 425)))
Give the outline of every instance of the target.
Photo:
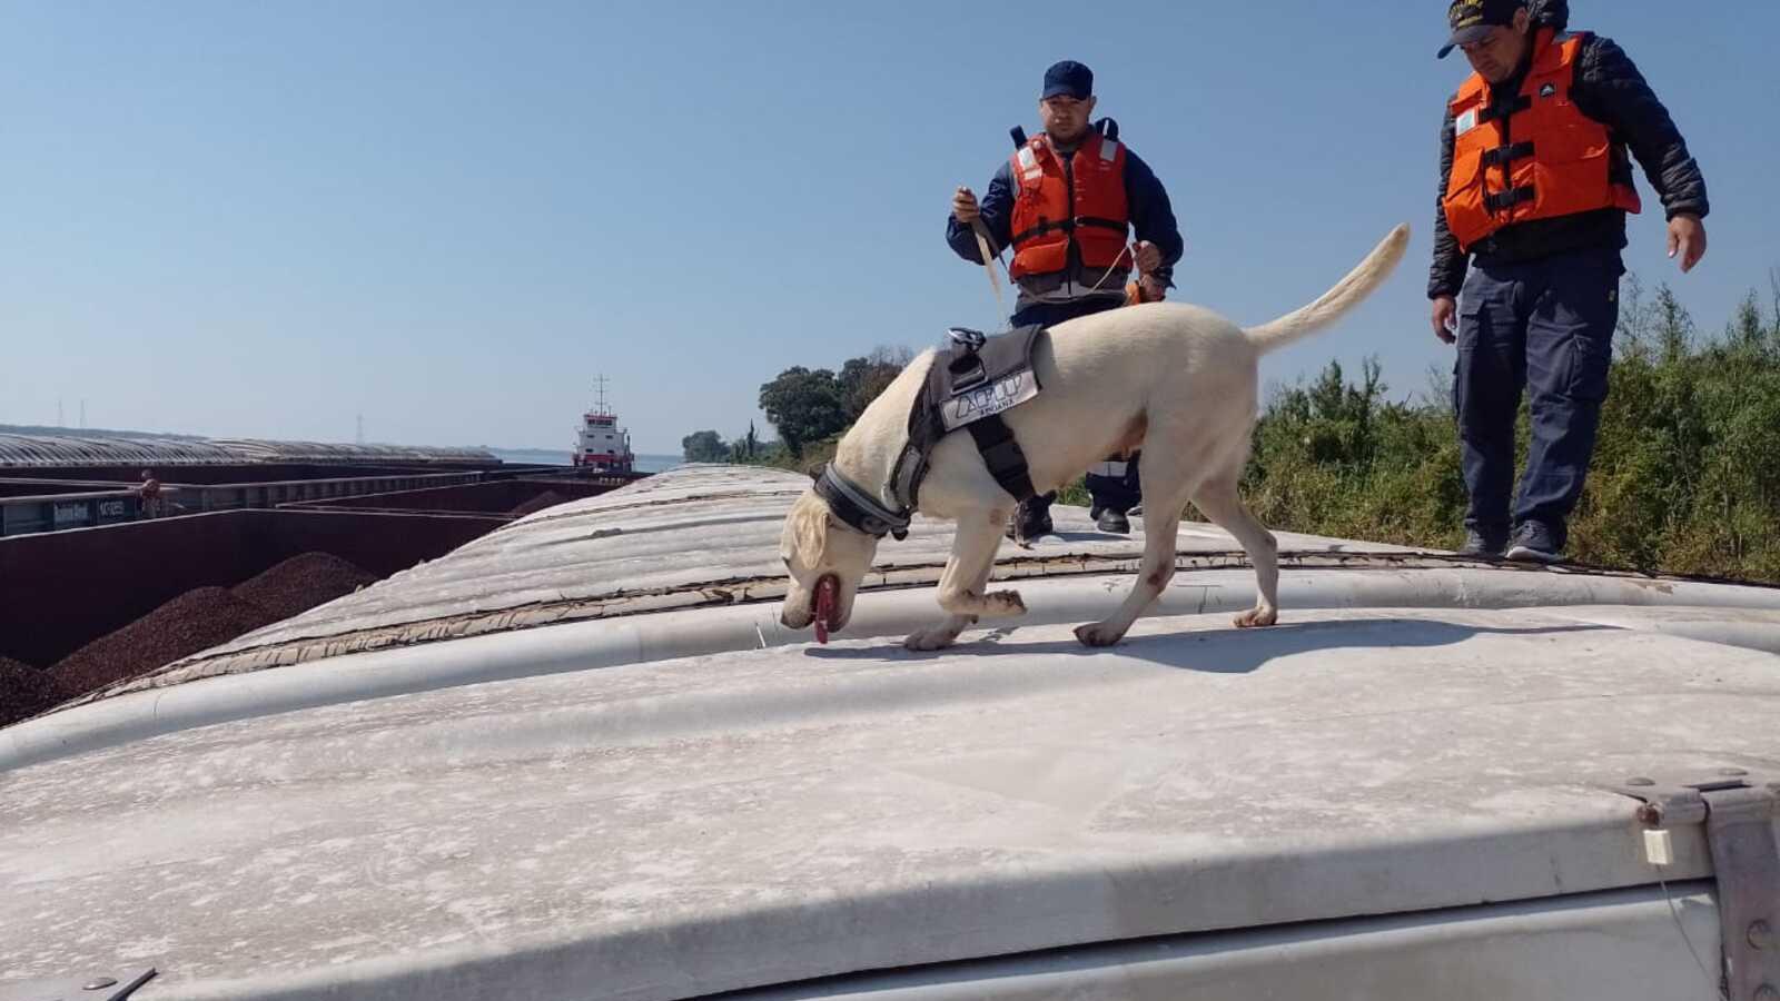
MULTIPOLYGON (((443 559, 109 695, 564 622, 776 600, 785 593, 780 527, 808 484, 803 476, 737 467, 660 474, 539 511, 443 559)), ((999 581, 1136 570, 1141 525, 1120 538, 1098 533, 1086 511, 1057 508, 1056 515, 1059 536, 1032 550, 1002 549, 999 581)), ((1287 566, 1413 557, 1399 547, 1290 533, 1280 543, 1287 566)), ((879 547, 865 586, 933 584, 951 545, 951 524, 917 520, 908 541, 879 547)), ((1180 554, 1189 570, 1242 565, 1235 541, 1212 525, 1184 525, 1180 554)))

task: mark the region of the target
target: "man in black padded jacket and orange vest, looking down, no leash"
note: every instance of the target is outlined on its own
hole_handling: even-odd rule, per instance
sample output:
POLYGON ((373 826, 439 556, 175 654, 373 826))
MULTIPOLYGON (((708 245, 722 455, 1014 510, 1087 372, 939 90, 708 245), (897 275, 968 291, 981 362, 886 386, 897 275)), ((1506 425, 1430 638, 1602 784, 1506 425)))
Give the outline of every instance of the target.
POLYGON ((1435 335, 1458 344, 1465 552, 1559 563, 1607 395, 1625 216, 1639 210, 1627 146, 1684 273, 1705 255, 1705 180, 1625 52, 1565 34, 1565 0, 1458 0, 1447 20, 1440 55, 1461 48, 1476 73, 1440 135, 1428 297, 1435 335), (1533 447, 1509 506, 1522 388, 1533 447))

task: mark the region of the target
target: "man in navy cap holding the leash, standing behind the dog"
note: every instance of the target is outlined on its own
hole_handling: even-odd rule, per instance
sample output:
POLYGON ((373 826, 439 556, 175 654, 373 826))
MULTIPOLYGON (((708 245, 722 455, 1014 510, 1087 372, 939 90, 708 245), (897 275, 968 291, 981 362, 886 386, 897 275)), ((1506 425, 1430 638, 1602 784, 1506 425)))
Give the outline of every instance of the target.
MULTIPOLYGON (((1013 326, 1057 324, 1127 303, 1136 265, 1136 294, 1159 301, 1173 283, 1184 244, 1168 191, 1150 167, 1118 141, 1111 119, 1093 125, 1095 75, 1080 62, 1045 71, 1038 114, 1045 132, 1025 141, 995 173, 983 201, 961 187, 952 198, 945 242, 970 264, 986 264, 974 224, 990 235, 990 251, 1013 248, 1011 274, 1020 287, 1013 326), (1137 232, 1136 253, 1127 230, 1137 232)), ((1104 531, 1129 533, 1127 515, 1141 500, 1136 458, 1112 456, 1088 474, 1093 515, 1104 531)), ((1054 493, 1020 504, 1018 538, 1052 531, 1054 493)), ((1015 529, 1009 529, 1015 533, 1015 529)))

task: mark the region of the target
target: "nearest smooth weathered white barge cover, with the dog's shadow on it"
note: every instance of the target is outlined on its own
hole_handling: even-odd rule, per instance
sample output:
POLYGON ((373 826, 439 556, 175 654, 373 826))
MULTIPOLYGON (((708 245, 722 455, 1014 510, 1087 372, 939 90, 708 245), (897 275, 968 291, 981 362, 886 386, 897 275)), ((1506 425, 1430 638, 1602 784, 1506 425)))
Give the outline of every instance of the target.
POLYGON ((1618 618, 851 641, 169 734, 0 775, 0 978, 671 999, 1646 885, 1606 785, 1780 762, 1780 659, 1618 618))

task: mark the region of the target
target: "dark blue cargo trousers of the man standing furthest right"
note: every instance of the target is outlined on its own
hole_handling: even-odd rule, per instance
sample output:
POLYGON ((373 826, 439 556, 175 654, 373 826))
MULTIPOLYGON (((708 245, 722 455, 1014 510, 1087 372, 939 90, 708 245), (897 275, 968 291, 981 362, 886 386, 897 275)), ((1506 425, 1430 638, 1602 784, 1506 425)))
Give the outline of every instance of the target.
POLYGON ((1477 265, 1465 281, 1452 403, 1468 529, 1504 540, 1513 525, 1540 522, 1565 545, 1607 397, 1623 271, 1616 249, 1590 249, 1477 265), (1522 390, 1533 447, 1509 509, 1522 390))

